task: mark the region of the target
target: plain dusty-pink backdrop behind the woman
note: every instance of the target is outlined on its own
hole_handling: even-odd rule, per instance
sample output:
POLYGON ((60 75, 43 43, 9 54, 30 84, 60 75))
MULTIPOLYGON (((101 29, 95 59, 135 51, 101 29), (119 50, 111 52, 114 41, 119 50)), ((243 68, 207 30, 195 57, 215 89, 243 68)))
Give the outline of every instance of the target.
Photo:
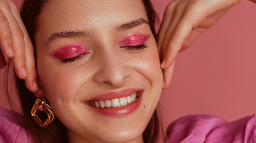
MULTIPOLYGON (((169 2, 153 0, 160 18, 169 2)), ((188 114, 232 121, 256 111, 255 17, 256 4, 244 0, 179 53, 172 85, 160 99, 165 125, 188 114)), ((3 95, 3 70, 0 74, 3 95)))

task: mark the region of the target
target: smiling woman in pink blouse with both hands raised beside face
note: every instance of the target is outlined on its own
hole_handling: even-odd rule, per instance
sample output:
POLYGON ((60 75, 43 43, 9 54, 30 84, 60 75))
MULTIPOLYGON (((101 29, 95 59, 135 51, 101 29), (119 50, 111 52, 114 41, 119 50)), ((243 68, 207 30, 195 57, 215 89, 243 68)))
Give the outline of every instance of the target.
MULTIPOLYGON (((25 0, 21 17, 28 33, 18 17, 18 42, 8 32, 11 8, 2 1, 0 26, 7 31, 0 28, 0 43, 5 55, 15 55, 22 115, 0 108, 0 142, 155 143, 163 142, 156 107, 170 86, 178 51, 242 0, 174 0, 158 44, 149 0, 25 0)), ((165 142, 254 143, 255 118, 227 123, 185 116, 170 124, 165 142)))

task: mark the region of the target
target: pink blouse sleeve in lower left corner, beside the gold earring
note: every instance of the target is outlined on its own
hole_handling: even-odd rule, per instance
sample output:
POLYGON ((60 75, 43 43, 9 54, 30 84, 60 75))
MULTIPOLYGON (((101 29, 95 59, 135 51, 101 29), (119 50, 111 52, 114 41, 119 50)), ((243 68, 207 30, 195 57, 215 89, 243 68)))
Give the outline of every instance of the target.
POLYGON ((0 142, 1 143, 30 143, 31 137, 21 127, 22 115, 0 107, 0 142))

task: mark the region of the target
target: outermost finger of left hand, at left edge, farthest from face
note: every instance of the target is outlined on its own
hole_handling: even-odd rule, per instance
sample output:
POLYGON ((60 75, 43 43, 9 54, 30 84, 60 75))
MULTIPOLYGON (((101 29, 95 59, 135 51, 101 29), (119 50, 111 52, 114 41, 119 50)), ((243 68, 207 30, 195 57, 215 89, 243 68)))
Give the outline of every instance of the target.
POLYGON ((4 54, 9 58, 14 57, 9 22, 4 12, 1 9, 0 9, 0 33, 1 33, 0 44, 4 54))

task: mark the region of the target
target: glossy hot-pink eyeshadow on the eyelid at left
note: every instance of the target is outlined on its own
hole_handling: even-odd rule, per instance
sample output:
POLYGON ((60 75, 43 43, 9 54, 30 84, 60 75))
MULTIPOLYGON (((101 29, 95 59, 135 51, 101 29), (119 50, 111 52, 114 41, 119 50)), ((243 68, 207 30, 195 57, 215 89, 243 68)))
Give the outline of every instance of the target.
POLYGON ((55 58, 72 58, 81 54, 88 53, 88 49, 80 44, 68 44, 63 47, 58 48, 54 51, 51 56, 55 58))

